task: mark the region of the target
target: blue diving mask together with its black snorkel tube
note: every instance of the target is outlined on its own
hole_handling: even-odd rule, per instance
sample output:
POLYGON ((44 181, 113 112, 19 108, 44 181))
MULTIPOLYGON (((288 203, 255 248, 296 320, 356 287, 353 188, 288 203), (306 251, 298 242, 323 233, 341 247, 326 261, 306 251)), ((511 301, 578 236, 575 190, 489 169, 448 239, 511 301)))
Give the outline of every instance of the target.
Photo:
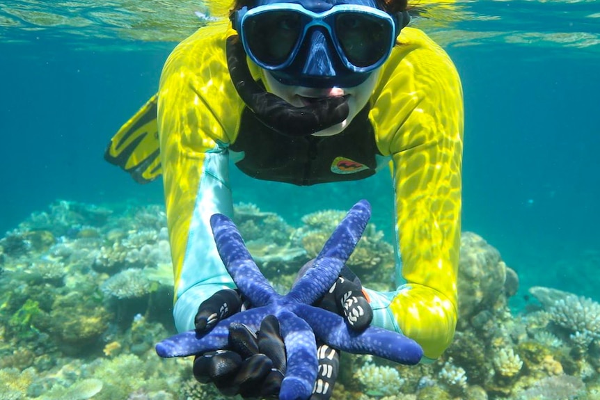
MULTIPOLYGON (((399 15, 402 19, 404 14, 399 15)), ((230 17, 238 35, 228 38, 226 51, 237 93, 259 120, 286 136, 308 136, 343 122, 349 115, 347 98, 332 95, 294 106, 254 81, 247 56, 283 85, 351 88, 384 63, 405 25, 398 15, 377 8, 374 0, 256 0, 230 17), (374 29, 340 29, 340 21, 353 18, 374 29), (358 40, 356 31, 363 33, 358 40), (363 37, 383 42, 374 47, 379 51, 375 56, 369 54, 373 46, 352 46, 363 37)))

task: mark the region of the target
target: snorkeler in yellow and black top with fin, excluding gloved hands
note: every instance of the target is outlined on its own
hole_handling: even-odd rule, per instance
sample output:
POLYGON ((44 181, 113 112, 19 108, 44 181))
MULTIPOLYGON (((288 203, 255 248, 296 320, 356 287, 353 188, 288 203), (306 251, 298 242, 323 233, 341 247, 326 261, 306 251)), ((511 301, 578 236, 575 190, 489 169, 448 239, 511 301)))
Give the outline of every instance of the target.
POLYGON ((297 185, 365 179, 389 165, 397 289, 362 288, 372 323, 416 340, 429 359, 448 347, 462 90, 443 49, 406 27, 406 9, 406 0, 237 0, 230 24, 208 24, 168 57, 159 93, 105 158, 138 182, 163 175, 177 330, 194 329, 200 303, 235 289, 209 223, 232 216, 230 161, 297 185))

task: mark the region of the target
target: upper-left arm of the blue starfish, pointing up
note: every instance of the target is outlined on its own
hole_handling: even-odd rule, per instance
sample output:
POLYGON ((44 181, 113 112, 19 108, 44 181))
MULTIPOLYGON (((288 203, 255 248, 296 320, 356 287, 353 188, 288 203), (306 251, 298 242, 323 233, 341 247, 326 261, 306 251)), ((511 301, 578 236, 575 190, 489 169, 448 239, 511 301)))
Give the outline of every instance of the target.
POLYGON ((233 221, 223 214, 214 214, 210 226, 223 264, 251 305, 260 307, 281 297, 260 273, 233 221))

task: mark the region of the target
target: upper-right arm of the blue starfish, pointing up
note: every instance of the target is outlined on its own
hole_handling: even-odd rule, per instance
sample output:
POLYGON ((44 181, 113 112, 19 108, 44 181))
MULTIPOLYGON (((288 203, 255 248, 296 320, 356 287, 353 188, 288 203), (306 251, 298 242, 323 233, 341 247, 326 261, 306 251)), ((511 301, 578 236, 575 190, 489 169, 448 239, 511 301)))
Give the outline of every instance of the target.
POLYGON ((312 304, 323 296, 340 275, 340 271, 371 217, 371 206, 361 200, 348 211, 342 222, 335 228, 323 250, 315 259, 313 268, 296 282, 287 297, 298 303, 312 304))

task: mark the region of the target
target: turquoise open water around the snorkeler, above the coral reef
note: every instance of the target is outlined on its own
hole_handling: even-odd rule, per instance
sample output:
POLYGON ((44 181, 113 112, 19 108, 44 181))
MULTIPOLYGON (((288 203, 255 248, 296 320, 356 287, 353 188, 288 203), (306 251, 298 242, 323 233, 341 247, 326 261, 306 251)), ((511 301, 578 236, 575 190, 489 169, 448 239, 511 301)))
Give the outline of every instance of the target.
MULTIPOLYGON (((157 90, 196 2, 4 1, 0 5, 0 237, 56 200, 161 204, 102 158, 157 90), (147 4, 147 3, 145 3, 147 4), (175 5, 177 4, 177 5, 175 5)), ((463 230, 498 248, 527 289, 600 301, 600 3, 481 1, 413 19, 464 87, 463 230)), ((390 177, 299 188, 232 170, 235 202, 292 223, 367 198, 392 235, 390 177)))

